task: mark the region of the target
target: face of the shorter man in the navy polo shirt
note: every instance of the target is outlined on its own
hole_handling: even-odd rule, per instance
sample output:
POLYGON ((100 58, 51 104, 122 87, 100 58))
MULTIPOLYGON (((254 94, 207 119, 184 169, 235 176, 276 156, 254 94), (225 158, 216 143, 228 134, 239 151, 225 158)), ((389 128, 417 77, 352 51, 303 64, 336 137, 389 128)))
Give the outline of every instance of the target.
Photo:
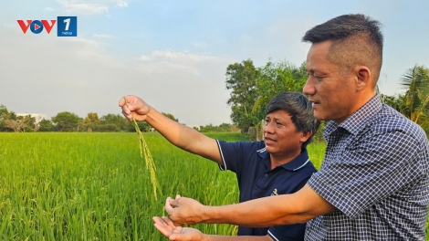
POLYGON ((291 115, 285 110, 275 110, 267 114, 264 124, 264 141, 267 152, 272 155, 288 157, 295 156, 301 151, 301 145, 309 136, 297 127, 291 120, 291 115))

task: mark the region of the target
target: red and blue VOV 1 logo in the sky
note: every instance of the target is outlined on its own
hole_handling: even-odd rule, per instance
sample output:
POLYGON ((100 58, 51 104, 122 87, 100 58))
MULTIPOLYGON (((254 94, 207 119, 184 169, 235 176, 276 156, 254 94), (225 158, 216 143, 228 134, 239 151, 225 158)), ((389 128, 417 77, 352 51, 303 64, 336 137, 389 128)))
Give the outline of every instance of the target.
POLYGON ((28 28, 33 34, 40 34, 43 29, 50 33, 54 25, 57 23, 58 37, 77 37, 78 36, 78 17, 77 16, 58 16, 57 20, 16 20, 24 34, 28 28))

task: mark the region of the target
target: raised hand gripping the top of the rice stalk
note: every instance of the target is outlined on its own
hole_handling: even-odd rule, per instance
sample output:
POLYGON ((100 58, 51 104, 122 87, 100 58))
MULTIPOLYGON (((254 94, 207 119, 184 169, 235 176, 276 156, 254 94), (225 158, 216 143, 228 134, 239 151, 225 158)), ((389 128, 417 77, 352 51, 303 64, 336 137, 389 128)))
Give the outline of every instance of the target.
POLYGON ((122 114, 129 121, 132 121, 132 117, 134 117, 136 121, 144 121, 149 110, 151 110, 151 106, 146 102, 132 95, 121 98, 119 106, 122 109, 122 114), (127 103, 125 103, 124 98, 127 100, 127 103))

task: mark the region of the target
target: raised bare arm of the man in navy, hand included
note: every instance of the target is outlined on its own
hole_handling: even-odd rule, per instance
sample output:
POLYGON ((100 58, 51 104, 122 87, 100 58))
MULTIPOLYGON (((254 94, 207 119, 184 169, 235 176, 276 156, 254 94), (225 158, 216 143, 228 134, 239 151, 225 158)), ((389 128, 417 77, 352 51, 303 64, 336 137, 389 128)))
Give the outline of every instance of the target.
POLYGON ((167 118, 136 96, 126 96, 125 99, 127 103, 124 98, 121 98, 119 106, 128 120, 132 121, 134 118, 136 121, 146 121, 173 145, 222 164, 217 142, 214 139, 167 118))

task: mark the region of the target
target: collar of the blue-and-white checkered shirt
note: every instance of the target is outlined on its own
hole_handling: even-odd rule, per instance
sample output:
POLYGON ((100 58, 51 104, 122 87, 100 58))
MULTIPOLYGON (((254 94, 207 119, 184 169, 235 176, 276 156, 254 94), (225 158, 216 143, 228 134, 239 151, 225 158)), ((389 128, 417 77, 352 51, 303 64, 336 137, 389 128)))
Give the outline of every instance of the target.
POLYGON ((337 128, 349 131, 351 134, 358 134, 370 121, 373 113, 382 110, 382 100, 378 95, 375 95, 370 101, 366 102, 359 110, 356 110, 350 117, 345 121, 342 121, 340 125, 337 125, 335 121, 330 121, 325 128, 323 137, 327 140, 327 137, 335 131, 337 128))

